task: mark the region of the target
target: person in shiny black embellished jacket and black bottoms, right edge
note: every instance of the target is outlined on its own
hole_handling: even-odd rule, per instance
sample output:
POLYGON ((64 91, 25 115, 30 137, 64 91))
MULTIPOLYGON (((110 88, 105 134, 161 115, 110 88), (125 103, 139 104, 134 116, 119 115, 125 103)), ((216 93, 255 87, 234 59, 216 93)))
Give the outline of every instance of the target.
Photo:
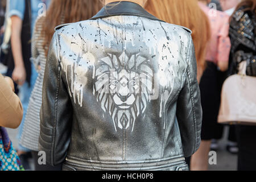
MULTIPOLYGON (((232 43, 230 73, 238 73, 241 61, 247 60, 246 75, 256 76, 256 0, 243 0, 230 21, 232 43)), ((251 90, 255 93, 255 90, 251 90)), ((256 121, 256 118, 255 118, 256 121)), ((256 126, 236 126, 238 139, 238 170, 256 171, 256 126)))

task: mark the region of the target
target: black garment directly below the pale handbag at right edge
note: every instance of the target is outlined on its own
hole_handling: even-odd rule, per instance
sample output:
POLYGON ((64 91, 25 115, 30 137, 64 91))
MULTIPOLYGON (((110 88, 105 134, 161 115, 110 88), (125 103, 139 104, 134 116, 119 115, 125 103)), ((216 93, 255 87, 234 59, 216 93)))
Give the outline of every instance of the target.
POLYGON ((256 126, 236 126, 238 171, 256 171, 256 126))

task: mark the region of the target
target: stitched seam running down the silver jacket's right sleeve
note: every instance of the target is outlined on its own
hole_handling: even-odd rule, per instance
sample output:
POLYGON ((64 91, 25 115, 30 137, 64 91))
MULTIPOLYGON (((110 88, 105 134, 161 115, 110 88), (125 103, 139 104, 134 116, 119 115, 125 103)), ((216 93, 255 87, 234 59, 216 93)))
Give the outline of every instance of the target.
MULTIPOLYGON (((188 50, 191 50, 191 46, 192 46, 192 38, 189 42, 189 46, 188 46, 188 50)), ((191 53, 191 52, 190 52, 191 53)), ((192 54, 192 53, 191 53, 192 54)), ((189 59, 189 56, 191 56, 191 54, 188 55, 187 60, 189 59)), ((194 122, 194 130, 195 130, 195 142, 194 142, 194 146, 193 146, 193 153, 195 152, 195 148, 196 148, 196 143, 197 143, 197 130, 196 130, 196 114, 195 114, 195 101, 194 101, 194 97, 193 97, 193 88, 192 88, 192 84, 191 84, 191 73, 190 73, 190 66, 189 66, 189 61, 187 61, 188 63, 188 67, 187 67, 187 73, 188 73, 188 81, 189 81, 189 88, 190 88, 190 94, 191 94, 191 105, 192 105, 192 112, 193 112, 193 122, 194 122)))

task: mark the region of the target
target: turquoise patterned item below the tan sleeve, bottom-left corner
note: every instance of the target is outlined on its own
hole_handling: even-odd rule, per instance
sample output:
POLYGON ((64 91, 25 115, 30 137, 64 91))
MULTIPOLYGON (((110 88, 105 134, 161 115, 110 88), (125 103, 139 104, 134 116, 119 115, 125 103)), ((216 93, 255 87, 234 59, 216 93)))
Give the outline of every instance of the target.
POLYGON ((24 171, 7 131, 0 126, 0 171, 24 171))

